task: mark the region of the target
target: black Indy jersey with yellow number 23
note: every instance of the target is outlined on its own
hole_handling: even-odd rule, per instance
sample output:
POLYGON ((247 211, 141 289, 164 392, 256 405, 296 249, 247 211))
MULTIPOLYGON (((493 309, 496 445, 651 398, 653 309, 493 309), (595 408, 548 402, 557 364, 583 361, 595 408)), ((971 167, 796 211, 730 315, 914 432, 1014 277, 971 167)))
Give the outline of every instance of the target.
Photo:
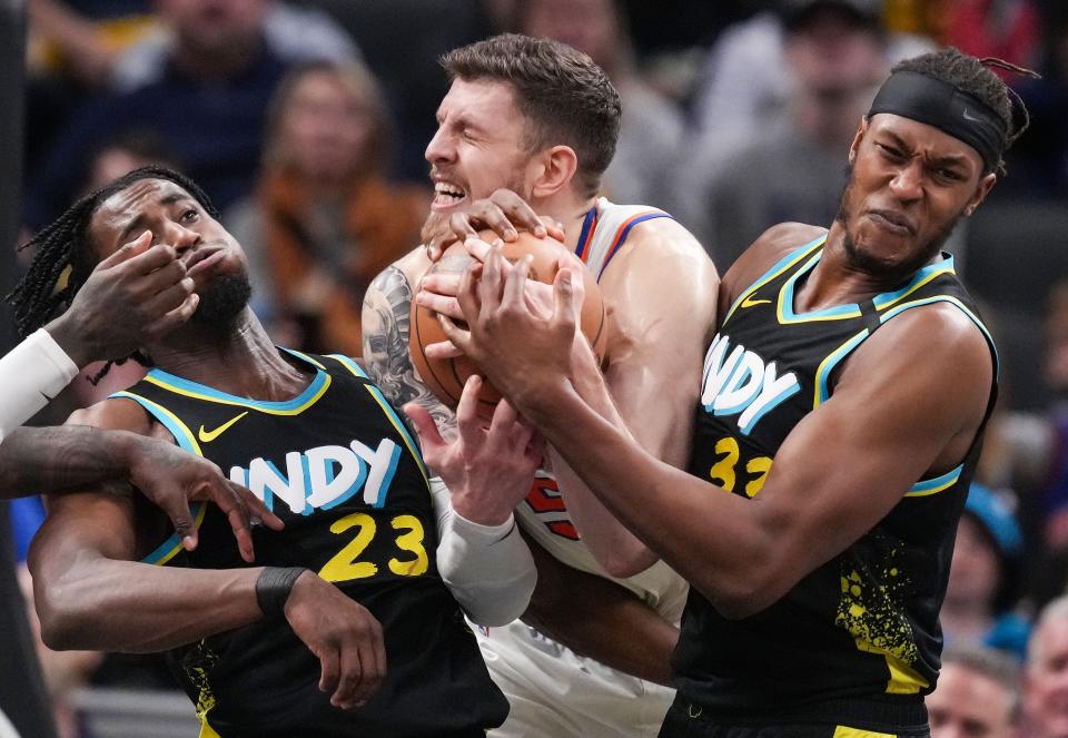
MULTIPOLYGON (((507 701, 435 564, 426 469, 396 412, 359 366, 289 352, 315 372, 287 402, 257 402, 152 370, 115 396, 140 403, 179 445, 218 464, 285 521, 254 529, 255 565, 307 567, 366 607, 385 633, 387 673, 364 707, 318 689, 319 661, 288 623, 260 621, 174 649, 168 661, 207 736, 467 736, 507 701)), ((200 542, 177 535, 146 561, 246 567, 226 516, 195 509, 200 542)))

